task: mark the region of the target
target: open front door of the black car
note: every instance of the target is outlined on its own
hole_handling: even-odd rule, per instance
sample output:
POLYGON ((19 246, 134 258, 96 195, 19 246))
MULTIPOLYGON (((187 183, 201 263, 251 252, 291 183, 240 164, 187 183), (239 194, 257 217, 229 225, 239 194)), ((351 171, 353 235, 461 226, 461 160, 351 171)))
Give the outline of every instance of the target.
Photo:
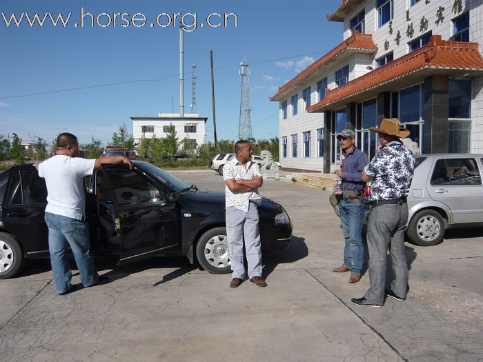
POLYGON ((102 165, 97 185, 112 199, 120 265, 180 247, 179 206, 168 202, 143 172, 126 165, 102 165))

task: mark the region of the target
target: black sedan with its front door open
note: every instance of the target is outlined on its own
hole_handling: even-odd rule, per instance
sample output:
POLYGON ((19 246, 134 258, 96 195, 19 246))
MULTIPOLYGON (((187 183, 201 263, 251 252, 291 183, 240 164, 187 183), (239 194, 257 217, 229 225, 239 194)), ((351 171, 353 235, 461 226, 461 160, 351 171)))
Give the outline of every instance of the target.
MULTIPOLYGON (((230 272, 224 192, 199 190, 154 165, 102 165, 85 178, 92 254, 118 265, 159 254, 195 257, 212 273, 230 272)), ((32 164, 0 174, 0 279, 19 273, 26 259, 48 258, 43 220, 46 183, 32 164)), ((278 203, 259 205, 262 251, 288 247, 292 223, 278 203)))

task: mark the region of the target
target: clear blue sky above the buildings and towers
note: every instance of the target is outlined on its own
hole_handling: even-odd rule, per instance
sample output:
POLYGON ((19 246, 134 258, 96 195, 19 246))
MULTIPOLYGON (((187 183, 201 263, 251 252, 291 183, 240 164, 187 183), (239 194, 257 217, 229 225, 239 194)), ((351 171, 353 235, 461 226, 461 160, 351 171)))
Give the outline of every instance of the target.
MULTIPOLYGON (((196 13, 197 23, 210 13, 235 13, 227 27, 197 26, 184 33, 185 112, 190 112, 191 65, 197 66, 197 111, 208 117, 206 137, 213 141, 210 50, 215 66, 218 139, 236 139, 239 119, 239 63, 250 69, 251 120, 256 139, 277 137, 278 103, 268 98, 311 62, 342 42, 342 23, 326 20, 341 0, 246 1, 22 1, 1 0, 8 19, 35 12, 64 18, 68 26, 46 23, 6 26, 0 14, 0 134, 16 132, 24 141, 42 137, 48 142, 59 132, 72 132, 81 143, 91 136, 104 144, 122 123, 132 132, 130 116, 179 112, 179 30, 149 24, 157 14, 196 13), (140 12, 146 26, 114 28, 80 23, 80 13, 140 12), (112 83, 119 83, 112 86, 112 83), (73 88, 81 88, 74 90, 73 88), (60 91, 60 92, 57 92, 60 91), (28 94, 40 93, 25 97, 28 94), (20 96, 20 97, 17 97, 20 96)), ((84 18, 85 23, 89 18, 84 18)), ((105 15, 99 18, 107 23, 105 15)), ((212 17, 212 23, 219 23, 212 17)), ((168 17, 160 18, 166 25, 168 17)), ((185 23, 193 23, 186 15, 185 23)), ((139 21, 138 21, 139 24, 139 21)), ((192 27, 193 28, 193 27, 192 27)))

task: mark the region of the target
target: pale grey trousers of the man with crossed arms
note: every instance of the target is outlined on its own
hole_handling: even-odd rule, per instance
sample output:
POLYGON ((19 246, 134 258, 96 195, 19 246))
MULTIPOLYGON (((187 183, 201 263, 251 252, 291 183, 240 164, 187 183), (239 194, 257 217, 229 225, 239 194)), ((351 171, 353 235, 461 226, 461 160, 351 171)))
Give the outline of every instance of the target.
POLYGON ((230 250, 233 278, 244 279, 243 244, 245 241, 248 277, 262 276, 262 248, 258 230, 257 206, 250 202, 248 212, 230 206, 226 208, 226 237, 230 250))

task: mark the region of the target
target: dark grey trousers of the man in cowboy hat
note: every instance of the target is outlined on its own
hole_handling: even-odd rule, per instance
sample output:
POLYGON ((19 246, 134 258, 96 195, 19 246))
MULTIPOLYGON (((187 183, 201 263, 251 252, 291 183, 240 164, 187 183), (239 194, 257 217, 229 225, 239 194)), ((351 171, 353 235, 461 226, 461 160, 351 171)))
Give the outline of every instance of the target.
POLYGON ((367 246, 369 250, 369 279, 371 286, 366 299, 371 303, 384 303, 386 287, 386 257, 391 242, 393 283, 391 289, 406 298, 408 263, 404 247, 404 228, 408 219, 408 204, 386 204, 373 208, 368 216, 367 246))

